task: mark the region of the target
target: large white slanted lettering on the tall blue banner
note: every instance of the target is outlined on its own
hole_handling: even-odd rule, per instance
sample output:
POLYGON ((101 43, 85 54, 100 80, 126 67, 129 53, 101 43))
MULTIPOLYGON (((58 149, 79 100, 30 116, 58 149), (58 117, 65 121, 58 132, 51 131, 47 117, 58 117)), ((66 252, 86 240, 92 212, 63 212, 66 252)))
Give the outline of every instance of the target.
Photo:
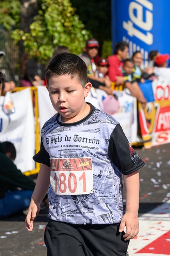
POLYGON ((129 37, 123 36, 123 40, 129 43, 130 55, 136 50, 141 51, 145 62, 148 59, 146 49, 153 44, 153 4, 147 0, 131 1, 128 14, 129 19, 123 21, 122 26, 129 37), (134 37, 140 41, 139 44, 134 37))

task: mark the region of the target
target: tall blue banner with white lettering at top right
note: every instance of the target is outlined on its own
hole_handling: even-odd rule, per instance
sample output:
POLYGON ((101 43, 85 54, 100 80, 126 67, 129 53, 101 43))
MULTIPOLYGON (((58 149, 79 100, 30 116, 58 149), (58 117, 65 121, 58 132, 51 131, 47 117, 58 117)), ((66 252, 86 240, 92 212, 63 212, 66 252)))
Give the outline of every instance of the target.
POLYGON ((170 0, 112 0, 112 41, 129 43, 130 56, 158 50, 170 55, 170 0))

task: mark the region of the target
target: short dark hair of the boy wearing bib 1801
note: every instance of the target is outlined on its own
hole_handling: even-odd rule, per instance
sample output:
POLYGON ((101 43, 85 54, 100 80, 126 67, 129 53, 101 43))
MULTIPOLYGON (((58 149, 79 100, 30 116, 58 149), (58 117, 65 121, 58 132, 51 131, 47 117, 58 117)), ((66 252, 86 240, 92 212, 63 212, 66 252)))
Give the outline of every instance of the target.
POLYGON ((46 69, 47 85, 50 77, 61 75, 71 75, 71 78, 77 77, 83 88, 88 83, 87 66, 76 54, 64 52, 51 60, 46 69))

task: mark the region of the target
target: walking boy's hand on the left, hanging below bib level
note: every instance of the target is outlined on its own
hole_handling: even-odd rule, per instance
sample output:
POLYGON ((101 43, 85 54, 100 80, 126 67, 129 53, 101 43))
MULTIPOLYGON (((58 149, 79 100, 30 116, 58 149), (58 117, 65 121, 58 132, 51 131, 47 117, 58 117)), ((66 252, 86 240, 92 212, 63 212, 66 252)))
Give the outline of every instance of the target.
POLYGON ((40 203, 31 200, 30 207, 28 208, 28 214, 25 219, 25 226, 28 231, 32 231, 34 228, 34 220, 40 211, 40 203))

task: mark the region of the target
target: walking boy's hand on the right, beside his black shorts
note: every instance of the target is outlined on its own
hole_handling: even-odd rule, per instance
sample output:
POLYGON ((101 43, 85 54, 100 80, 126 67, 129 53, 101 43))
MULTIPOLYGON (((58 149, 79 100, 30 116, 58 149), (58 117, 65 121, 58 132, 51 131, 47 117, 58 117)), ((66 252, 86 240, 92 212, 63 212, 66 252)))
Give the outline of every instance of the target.
POLYGON ((138 235, 139 233, 139 221, 138 217, 133 214, 126 212, 122 218, 122 221, 119 226, 119 232, 121 233, 126 226, 126 232, 123 235, 124 240, 129 240, 138 235))

